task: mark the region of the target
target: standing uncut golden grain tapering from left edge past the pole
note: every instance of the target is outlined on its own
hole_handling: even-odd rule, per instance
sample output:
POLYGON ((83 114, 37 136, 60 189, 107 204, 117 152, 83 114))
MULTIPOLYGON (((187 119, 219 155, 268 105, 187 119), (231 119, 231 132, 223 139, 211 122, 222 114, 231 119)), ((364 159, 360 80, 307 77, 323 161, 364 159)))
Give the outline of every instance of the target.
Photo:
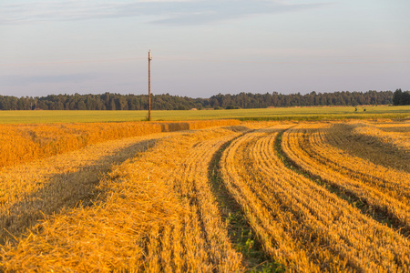
POLYGON ((210 126, 239 125, 238 120, 125 122, 0 126, 0 167, 74 151, 100 142, 210 126))

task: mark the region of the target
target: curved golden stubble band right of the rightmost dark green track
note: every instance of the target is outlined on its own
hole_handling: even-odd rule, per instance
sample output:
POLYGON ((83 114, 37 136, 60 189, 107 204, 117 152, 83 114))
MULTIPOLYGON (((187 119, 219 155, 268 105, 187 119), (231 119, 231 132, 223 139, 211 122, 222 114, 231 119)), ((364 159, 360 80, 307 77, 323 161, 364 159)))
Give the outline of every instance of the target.
POLYGON ((294 127, 283 134, 283 151, 311 174, 384 211, 408 232, 410 174, 347 155, 326 142, 328 129, 332 128, 323 125, 294 127))

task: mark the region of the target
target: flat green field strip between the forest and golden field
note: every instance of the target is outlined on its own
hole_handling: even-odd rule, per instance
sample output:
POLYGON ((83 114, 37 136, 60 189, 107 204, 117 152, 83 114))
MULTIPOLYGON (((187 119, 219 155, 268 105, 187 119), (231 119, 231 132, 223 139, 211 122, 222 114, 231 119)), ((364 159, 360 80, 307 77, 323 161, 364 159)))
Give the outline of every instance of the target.
MULTIPOLYGON (((148 111, 0 111, 0 124, 125 122, 146 120, 148 111)), ((230 110, 155 110, 152 121, 233 118, 240 120, 410 119, 410 106, 286 107, 230 110), (358 111, 355 111, 358 108, 358 111), (364 111, 364 108, 366 111, 364 111)))

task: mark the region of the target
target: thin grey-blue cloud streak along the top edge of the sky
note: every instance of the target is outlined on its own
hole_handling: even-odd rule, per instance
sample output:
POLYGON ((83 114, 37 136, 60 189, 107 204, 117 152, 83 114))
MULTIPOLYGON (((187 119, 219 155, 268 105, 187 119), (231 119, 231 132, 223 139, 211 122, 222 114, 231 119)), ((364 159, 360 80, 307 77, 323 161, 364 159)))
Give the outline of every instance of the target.
POLYGON ((60 1, 0 4, 0 24, 25 24, 41 21, 70 21, 130 16, 158 16, 149 23, 200 25, 250 15, 279 14, 322 7, 323 3, 285 4, 273 0, 198 0, 90 2, 60 1))

